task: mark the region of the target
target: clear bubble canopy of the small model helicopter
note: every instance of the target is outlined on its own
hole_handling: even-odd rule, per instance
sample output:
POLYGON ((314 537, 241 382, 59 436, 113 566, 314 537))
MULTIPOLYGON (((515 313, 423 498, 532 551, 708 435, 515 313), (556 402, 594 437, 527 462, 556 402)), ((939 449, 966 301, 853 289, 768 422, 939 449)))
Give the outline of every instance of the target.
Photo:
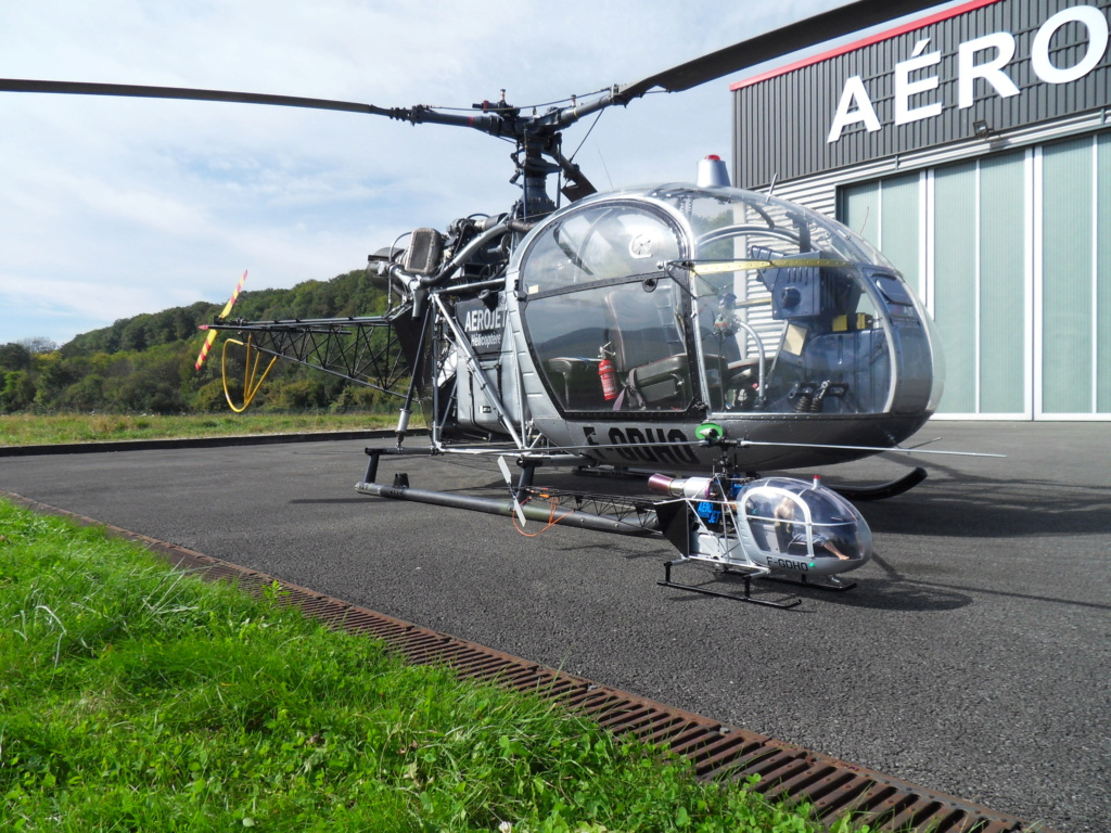
POLYGON ((859 565, 872 555, 872 533, 863 516, 817 481, 767 478, 738 500, 738 522, 764 556, 834 559, 859 565))

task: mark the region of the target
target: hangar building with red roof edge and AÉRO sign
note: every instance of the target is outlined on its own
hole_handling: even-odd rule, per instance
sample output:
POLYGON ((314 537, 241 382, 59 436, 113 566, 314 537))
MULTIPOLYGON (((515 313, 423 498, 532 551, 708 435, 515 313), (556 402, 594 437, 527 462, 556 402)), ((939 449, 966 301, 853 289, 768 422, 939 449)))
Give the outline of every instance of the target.
POLYGON ((731 87, 735 181, 918 288, 939 416, 1111 420, 1111 0, 972 0, 731 87))

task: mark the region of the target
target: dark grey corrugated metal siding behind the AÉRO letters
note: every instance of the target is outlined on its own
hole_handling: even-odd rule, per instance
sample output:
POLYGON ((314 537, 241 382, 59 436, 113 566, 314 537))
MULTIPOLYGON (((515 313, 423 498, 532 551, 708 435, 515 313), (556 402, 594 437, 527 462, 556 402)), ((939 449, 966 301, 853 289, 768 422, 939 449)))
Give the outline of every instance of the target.
MULTIPOLYGON (((1031 66, 1038 30, 1057 12, 1078 6, 1099 9, 1104 18, 1111 0, 1000 0, 980 9, 897 34, 855 51, 834 56, 734 92, 734 171, 745 188, 761 188, 772 178, 789 181, 875 159, 922 150, 973 137, 973 123, 985 121, 993 132, 1035 124, 1111 104, 1111 49, 1083 78, 1047 83, 1031 66), (974 86, 973 104, 958 108, 958 47, 993 32, 1014 37, 1014 57, 1004 71, 1021 91, 1002 98, 983 80, 974 86), (924 53, 941 52, 940 63, 911 74, 911 81, 935 76, 937 90, 911 98, 912 108, 940 101, 941 114, 894 123, 894 69, 910 59, 925 39, 924 53), (879 118, 880 130, 860 122, 828 142, 845 81, 860 76, 879 118)), ((1062 27, 1051 41, 1052 63, 1074 66, 1087 52, 1087 30, 1062 27)), ((982 58, 981 58, 982 60, 982 58)))

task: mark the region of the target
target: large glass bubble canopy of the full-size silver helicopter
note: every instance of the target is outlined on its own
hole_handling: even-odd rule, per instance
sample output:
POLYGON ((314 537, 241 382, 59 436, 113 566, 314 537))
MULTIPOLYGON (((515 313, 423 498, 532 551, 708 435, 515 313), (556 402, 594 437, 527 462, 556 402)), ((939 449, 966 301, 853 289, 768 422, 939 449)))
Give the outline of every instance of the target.
POLYGON ((723 424, 891 416, 884 435, 905 436, 940 399, 932 322, 894 267, 844 225, 768 194, 682 183, 594 194, 534 228, 509 280, 518 349, 543 385, 527 393, 553 404, 532 416, 556 434, 578 414, 704 409, 723 424), (615 384, 600 381, 603 362, 615 384))

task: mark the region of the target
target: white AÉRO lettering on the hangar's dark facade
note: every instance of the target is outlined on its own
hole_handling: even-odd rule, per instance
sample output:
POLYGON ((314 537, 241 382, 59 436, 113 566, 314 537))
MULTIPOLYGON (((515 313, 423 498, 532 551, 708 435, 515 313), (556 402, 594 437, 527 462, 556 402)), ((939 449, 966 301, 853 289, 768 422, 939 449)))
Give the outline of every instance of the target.
MULTIPOLYGON (((1102 11, 1092 6, 1064 9, 1042 23, 1034 34, 1030 47, 1030 64, 1038 79, 1044 83, 1078 81, 1099 66, 1107 51, 1108 39, 1108 19, 1102 11), (1053 36, 1069 23, 1078 23, 1087 30, 1087 49, 1083 57, 1071 67, 1058 67, 1050 54, 1050 43, 1053 36)), ((941 79, 935 70, 931 70, 941 63, 941 52, 925 52, 929 43, 928 38, 920 40, 914 44, 911 57, 894 67, 897 126, 932 119, 940 116, 945 107, 940 99, 931 98, 931 93, 940 87, 941 79)), ((1001 98, 1018 96, 1020 90, 1007 73, 1014 52, 1014 36, 1010 32, 993 32, 960 43, 957 48, 957 107, 961 110, 972 107, 977 80, 984 81, 1001 98)), ((825 141, 832 143, 840 140, 845 128, 853 124, 863 124, 868 132, 875 132, 882 127, 860 76, 853 76, 844 82, 825 141)))

